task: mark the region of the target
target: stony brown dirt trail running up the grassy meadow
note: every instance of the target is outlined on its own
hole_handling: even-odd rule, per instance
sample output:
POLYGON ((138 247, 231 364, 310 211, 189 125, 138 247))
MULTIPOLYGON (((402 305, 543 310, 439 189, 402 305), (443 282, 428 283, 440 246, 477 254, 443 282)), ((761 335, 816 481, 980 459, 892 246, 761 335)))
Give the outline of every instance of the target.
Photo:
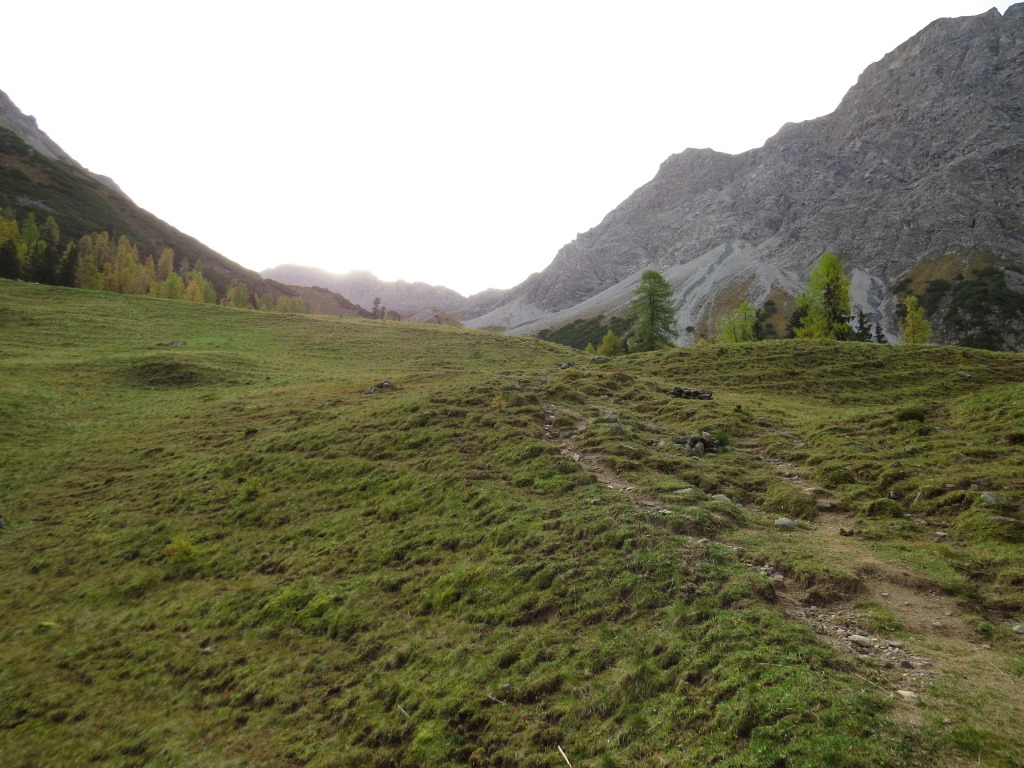
MULTIPOLYGON (((545 436, 564 456, 579 462, 604 485, 627 496, 636 507, 650 512, 664 506, 637 492, 628 478, 608 467, 600 456, 580 449, 575 437, 586 430, 592 419, 552 403, 545 406, 545 436), (557 426, 560 416, 569 416, 573 426, 557 426)), ((786 482, 803 493, 817 494, 820 498, 822 492, 809 482, 805 468, 767 459, 759 454, 756 446, 744 450, 772 466, 786 482)), ((756 511, 752 513, 758 514, 756 511)), ((779 605, 786 614, 811 626, 841 651, 873 664, 894 694, 908 702, 915 701, 941 676, 956 673, 970 675, 977 683, 984 682, 1000 694, 1024 703, 1024 692, 999 670, 998 658, 977 633, 974 627, 977 620, 972 621, 955 599, 936 589, 925 577, 912 572, 905 565, 886 560, 856 537, 849 536, 847 529, 852 528, 853 523, 853 518, 849 516, 825 510, 816 517, 810 531, 794 534, 813 535, 816 545, 821 547, 829 560, 842 562, 860 580, 857 594, 838 602, 820 606, 809 604, 804 599, 803 590, 791 585, 784 577, 784 564, 765 565, 751 561, 746 564, 771 579, 779 605), (885 633, 872 634, 862 629, 871 626, 865 603, 888 608, 905 628, 908 639, 883 637, 880 635, 885 633), (979 675, 984 676, 984 681, 978 679, 979 675)), ((719 543, 730 545, 727 541, 719 543)), ((741 547, 731 548, 743 559, 741 547)), ((916 722, 920 715, 908 709, 904 717, 908 722, 916 722)))

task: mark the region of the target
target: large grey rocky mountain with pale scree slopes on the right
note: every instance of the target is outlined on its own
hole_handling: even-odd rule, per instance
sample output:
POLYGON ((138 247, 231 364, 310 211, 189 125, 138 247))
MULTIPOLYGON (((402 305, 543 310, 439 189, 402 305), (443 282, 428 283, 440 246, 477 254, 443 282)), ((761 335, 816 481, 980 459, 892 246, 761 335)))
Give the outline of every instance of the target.
MULTIPOLYGON (((955 287, 988 267, 1006 291, 1024 290, 1022 168, 1024 3, 939 19, 868 67, 830 115, 740 155, 670 157, 545 270, 462 319, 525 334, 618 312, 653 267, 691 341, 743 298, 785 305, 830 251, 852 269, 854 304, 892 329, 894 286, 955 287)), ((962 341, 987 310, 957 329, 948 295, 932 322, 962 341)), ((1000 323, 1002 346, 1024 343, 1024 309, 1000 323)))

